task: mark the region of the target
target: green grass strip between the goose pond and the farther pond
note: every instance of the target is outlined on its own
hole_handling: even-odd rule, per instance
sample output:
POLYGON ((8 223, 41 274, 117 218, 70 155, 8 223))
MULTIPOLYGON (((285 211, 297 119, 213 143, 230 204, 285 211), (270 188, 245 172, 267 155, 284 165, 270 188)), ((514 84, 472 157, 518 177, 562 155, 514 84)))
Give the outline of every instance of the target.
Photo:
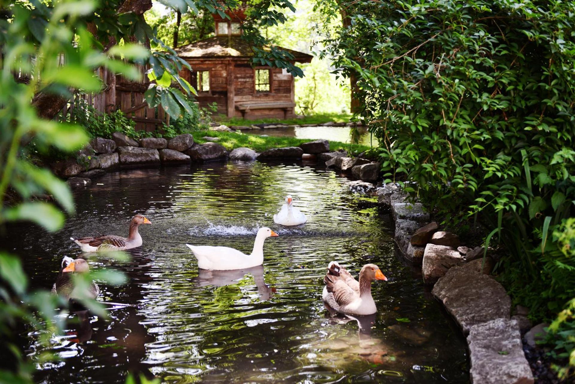
MULTIPOLYGON (((296 139, 274 136, 265 138, 260 135, 222 131, 197 131, 191 132, 191 134, 194 136, 194 141, 200 144, 206 142, 206 140, 202 139, 202 137, 210 136, 220 138, 218 144, 223 145, 227 150, 232 150, 239 147, 247 147, 253 149, 256 152, 263 152, 272 148, 298 147, 301 143, 312 141, 310 139, 296 139)), ((330 141, 329 149, 332 151, 336 151, 338 149, 350 151, 350 145, 348 143, 330 141)), ((354 153, 363 152, 368 149, 369 147, 365 145, 354 145, 352 147, 354 153)))

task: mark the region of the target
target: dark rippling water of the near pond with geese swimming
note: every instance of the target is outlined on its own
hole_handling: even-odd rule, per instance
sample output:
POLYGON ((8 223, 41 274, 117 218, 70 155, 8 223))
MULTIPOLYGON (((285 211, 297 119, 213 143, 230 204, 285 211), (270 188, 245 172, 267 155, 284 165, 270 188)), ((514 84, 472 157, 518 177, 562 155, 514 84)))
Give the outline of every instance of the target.
MULTIPOLYGON (((315 165, 213 163, 106 174, 75 192, 77 214, 56 234, 9 229, 4 246, 25 255, 34 287, 50 289, 63 256, 79 256, 70 236, 127 233, 139 212, 152 222, 127 263, 124 286, 101 284, 109 318, 69 316, 52 339, 62 360, 44 364, 41 383, 122 383, 142 372, 166 383, 469 383, 465 340, 394 256, 389 216, 374 197, 354 195, 346 179, 315 165), (272 215, 290 193, 308 223, 287 228, 272 215), (269 226, 263 267, 198 271, 185 243, 250 252, 269 226), (321 302, 331 260, 357 275, 375 263, 378 313, 331 318, 321 302)), ((40 353, 30 330, 26 348, 40 353)))

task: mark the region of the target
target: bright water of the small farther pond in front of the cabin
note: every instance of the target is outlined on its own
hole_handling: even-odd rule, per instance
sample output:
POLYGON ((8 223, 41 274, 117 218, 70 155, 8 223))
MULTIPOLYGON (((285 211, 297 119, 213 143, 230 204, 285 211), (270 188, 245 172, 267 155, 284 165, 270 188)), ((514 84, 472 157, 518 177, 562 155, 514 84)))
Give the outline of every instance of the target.
MULTIPOLYGON (((358 128, 359 144, 367 146, 377 146, 377 138, 372 137, 366 128, 358 128)), ((253 133, 251 131, 250 133, 253 133)), ((350 142, 350 127, 295 127, 295 128, 269 128, 262 130, 261 134, 270 136, 287 136, 290 138, 297 139, 328 139, 333 141, 339 141, 342 143, 350 142)))

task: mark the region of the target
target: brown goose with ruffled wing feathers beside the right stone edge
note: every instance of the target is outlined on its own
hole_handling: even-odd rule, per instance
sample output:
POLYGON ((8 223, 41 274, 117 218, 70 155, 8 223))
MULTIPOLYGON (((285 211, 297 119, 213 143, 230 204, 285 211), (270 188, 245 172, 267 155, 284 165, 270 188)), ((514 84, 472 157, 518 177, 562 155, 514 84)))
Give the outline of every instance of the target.
POLYGON ((366 264, 359 272, 359 282, 336 261, 329 263, 324 277, 325 287, 322 298, 325 303, 340 313, 369 315, 377 312, 371 297, 371 282, 385 280, 375 264, 366 264))

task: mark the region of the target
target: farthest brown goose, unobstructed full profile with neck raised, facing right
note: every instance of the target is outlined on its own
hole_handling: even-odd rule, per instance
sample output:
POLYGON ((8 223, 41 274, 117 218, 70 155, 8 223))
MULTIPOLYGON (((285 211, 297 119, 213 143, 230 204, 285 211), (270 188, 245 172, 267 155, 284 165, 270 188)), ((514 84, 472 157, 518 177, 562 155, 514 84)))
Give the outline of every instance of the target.
POLYGON ((70 239, 80 246, 82 252, 97 252, 98 250, 124 250, 142 245, 142 238, 138 232, 140 224, 151 224, 143 215, 136 215, 130 222, 128 237, 105 235, 98 237, 79 237, 70 239))

